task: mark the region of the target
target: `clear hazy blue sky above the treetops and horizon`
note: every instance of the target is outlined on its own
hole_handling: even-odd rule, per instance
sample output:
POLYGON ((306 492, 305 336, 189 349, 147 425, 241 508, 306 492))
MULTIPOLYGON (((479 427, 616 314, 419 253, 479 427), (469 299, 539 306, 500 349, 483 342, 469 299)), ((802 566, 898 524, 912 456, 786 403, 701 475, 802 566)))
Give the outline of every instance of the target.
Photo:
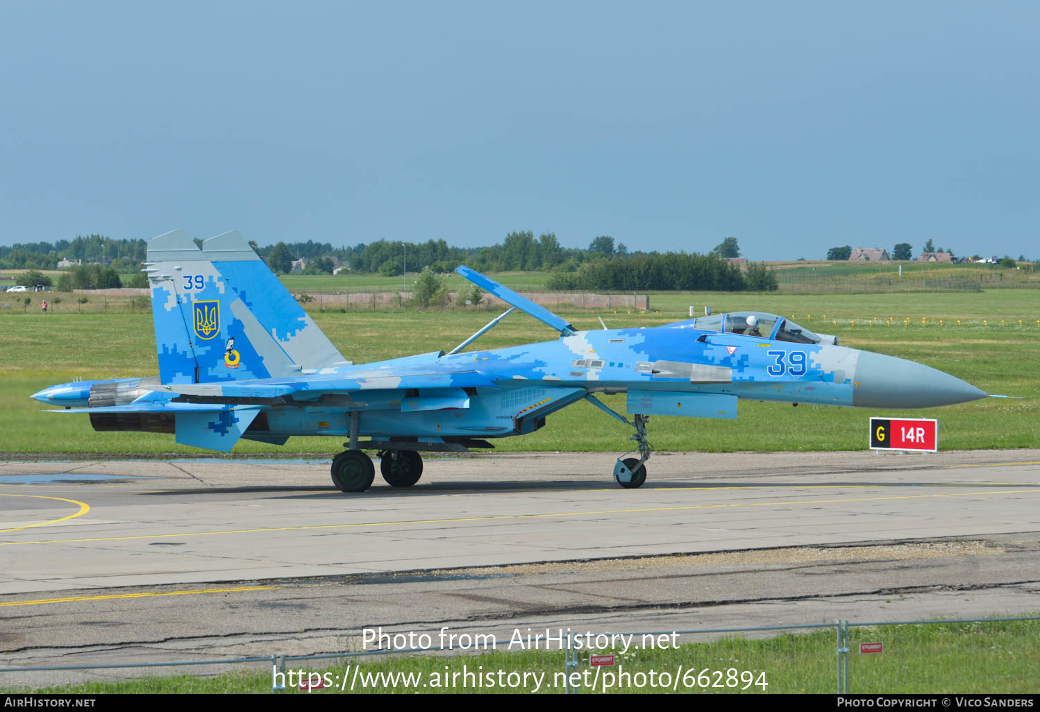
POLYGON ((1036 2, 2 0, 0 243, 1040 258, 1036 2))

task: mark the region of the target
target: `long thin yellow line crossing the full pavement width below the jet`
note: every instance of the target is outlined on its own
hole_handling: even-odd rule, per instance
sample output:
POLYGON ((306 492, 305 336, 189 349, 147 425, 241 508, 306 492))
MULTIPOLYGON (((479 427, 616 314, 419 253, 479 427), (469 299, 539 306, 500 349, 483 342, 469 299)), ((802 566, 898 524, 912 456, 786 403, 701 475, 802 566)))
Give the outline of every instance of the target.
MULTIPOLYGON (((833 485, 837 486, 837 485, 833 485)), ((550 517, 594 517, 597 515, 632 515, 649 511, 682 511, 691 509, 725 509, 737 507, 783 507, 796 504, 851 504, 854 502, 878 502, 898 499, 933 499, 939 497, 986 497, 989 495, 1020 495, 1040 493, 1040 490, 1004 490, 996 492, 956 492, 940 495, 901 495, 896 497, 857 497, 854 499, 809 499, 787 502, 732 502, 729 504, 695 504, 677 507, 645 507, 639 509, 598 509, 593 511, 554 511, 544 515, 492 515, 488 517, 464 517, 459 519, 404 520, 399 522, 365 522, 359 524, 315 524, 298 527, 269 527, 263 529, 226 529, 223 531, 191 531, 162 534, 132 534, 129 536, 97 536, 77 539, 43 539, 36 542, 0 542, 0 547, 25 544, 84 544, 89 542, 124 542, 129 539, 178 538, 185 536, 218 536, 222 534, 256 534, 271 531, 310 531, 315 529, 363 529, 365 527, 391 527, 409 524, 454 524, 460 522, 491 522, 496 520, 546 519, 550 517)))

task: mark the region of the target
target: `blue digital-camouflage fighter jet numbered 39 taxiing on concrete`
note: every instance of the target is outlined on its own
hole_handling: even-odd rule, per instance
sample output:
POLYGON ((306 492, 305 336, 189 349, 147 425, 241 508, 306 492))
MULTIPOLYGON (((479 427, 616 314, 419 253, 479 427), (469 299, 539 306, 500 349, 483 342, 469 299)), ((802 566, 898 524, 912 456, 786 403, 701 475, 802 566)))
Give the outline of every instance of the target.
POLYGON ((511 289, 462 266, 511 305, 449 352, 356 365, 344 359, 237 233, 203 242, 183 231, 149 241, 159 374, 83 380, 32 397, 86 413, 96 430, 174 433, 227 452, 239 439, 283 445, 292 436, 346 438, 332 462, 343 492, 367 490, 381 458, 393 486, 415 484, 421 451, 491 448, 534 432, 579 400, 632 426, 638 456, 618 459, 623 487, 646 480, 650 416, 736 418, 740 398, 916 408, 986 397, 934 368, 839 346, 763 312, 697 317, 655 327, 581 332, 511 289), (514 310, 557 333, 551 341, 464 351, 514 310), (632 420, 596 394, 626 393, 632 420), (367 438, 367 440, 361 440, 367 438))

